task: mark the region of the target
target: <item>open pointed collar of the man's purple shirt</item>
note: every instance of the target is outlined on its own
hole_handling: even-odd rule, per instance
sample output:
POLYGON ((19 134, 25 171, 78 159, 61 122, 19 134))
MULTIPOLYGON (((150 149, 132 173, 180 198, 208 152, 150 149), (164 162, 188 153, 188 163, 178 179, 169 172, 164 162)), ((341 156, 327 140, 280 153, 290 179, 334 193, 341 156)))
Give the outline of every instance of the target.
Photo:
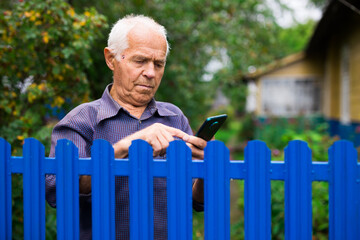
MULTIPOLYGON (((110 89, 112 85, 113 84, 111 83, 106 86, 105 91, 100 99, 100 109, 96 119, 97 123, 100 123, 104 119, 111 118, 117 115, 120 110, 123 110, 125 113, 129 114, 129 112, 125 108, 123 108, 118 102, 116 102, 110 95, 110 89)), ((155 101, 155 99, 153 98, 146 107, 143 116, 141 116, 141 119, 149 118, 153 116, 156 112, 161 117, 178 115, 177 113, 166 108, 164 104, 155 101)))

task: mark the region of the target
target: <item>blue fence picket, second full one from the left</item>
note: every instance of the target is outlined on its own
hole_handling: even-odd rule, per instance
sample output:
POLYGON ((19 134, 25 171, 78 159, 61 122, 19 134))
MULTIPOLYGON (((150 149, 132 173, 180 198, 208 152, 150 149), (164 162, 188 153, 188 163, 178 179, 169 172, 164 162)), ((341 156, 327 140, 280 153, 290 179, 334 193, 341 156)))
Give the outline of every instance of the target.
POLYGON ((79 155, 77 147, 62 139, 56 145, 57 239, 79 239, 79 155))

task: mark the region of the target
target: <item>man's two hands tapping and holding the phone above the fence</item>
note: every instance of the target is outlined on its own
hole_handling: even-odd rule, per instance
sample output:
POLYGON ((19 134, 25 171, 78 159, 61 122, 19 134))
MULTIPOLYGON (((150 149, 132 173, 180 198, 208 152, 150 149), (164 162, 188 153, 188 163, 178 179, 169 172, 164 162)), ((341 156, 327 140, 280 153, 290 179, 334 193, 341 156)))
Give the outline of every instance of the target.
POLYGON ((159 156, 166 153, 166 148, 174 137, 180 138, 191 148, 193 157, 202 159, 204 157, 204 148, 206 141, 190 136, 187 133, 161 123, 155 123, 143 130, 140 130, 114 144, 115 157, 125 158, 128 156, 131 142, 135 139, 142 139, 148 142, 153 148, 153 156, 159 156))

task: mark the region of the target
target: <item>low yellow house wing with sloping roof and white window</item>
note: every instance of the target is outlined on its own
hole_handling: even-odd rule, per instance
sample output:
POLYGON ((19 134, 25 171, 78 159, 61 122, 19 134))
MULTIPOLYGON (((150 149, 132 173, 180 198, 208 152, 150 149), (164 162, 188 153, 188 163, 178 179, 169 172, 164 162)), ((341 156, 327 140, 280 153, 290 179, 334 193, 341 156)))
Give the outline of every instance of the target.
POLYGON ((248 98, 256 99, 254 110, 260 117, 293 117, 321 111, 321 60, 308 58, 305 53, 260 68, 247 79, 251 90, 248 98))

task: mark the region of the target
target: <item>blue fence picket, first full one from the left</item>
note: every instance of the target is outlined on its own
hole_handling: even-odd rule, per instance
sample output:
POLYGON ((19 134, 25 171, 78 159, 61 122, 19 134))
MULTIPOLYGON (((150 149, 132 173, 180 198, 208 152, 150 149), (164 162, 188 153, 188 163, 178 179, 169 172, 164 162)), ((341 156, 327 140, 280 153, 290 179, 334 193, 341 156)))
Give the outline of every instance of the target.
POLYGON ((36 139, 27 138, 24 152, 24 239, 45 239, 45 150, 36 139))

